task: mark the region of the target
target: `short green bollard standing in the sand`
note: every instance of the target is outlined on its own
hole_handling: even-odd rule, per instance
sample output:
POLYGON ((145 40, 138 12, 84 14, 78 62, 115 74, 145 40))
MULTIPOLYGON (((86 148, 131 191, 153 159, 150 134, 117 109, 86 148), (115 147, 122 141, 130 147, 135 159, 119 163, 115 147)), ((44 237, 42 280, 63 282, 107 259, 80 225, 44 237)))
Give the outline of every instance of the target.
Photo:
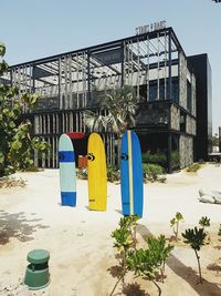
POLYGON ((30 264, 27 266, 24 284, 29 289, 41 289, 50 284, 49 258, 50 253, 45 249, 33 249, 28 254, 30 264))

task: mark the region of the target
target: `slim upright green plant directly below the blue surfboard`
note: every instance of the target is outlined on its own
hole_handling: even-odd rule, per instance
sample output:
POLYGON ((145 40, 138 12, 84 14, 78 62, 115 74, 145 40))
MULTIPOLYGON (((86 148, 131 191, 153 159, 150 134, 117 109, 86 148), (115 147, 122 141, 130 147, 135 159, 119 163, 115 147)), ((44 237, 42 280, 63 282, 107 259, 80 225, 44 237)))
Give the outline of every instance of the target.
POLYGON ((112 233, 112 237, 115 239, 114 242, 114 247, 117 248, 119 252, 118 257, 119 257, 119 275, 118 275, 118 280, 115 284, 110 296, 114 294, 117 285, 119 282, 123 282, 123 285, 125 283, 125 275, 128 272, 127 267, 127 256, 129 249, 134 245, 134 237, 130 227, 136 226, 135 217, 133 216, 125 216, 120 218, 119 221, 119 228, 115 229, 112 233))

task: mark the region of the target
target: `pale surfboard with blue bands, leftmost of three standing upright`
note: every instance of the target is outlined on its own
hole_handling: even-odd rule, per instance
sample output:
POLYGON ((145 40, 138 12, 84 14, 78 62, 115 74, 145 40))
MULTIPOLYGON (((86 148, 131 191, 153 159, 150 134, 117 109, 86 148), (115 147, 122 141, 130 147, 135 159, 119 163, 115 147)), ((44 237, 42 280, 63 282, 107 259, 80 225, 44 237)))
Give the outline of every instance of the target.
POLYGON ((59 163, 62 205, 76 206, 75 155, 66 134, 62 134, 59 140, 59 163))

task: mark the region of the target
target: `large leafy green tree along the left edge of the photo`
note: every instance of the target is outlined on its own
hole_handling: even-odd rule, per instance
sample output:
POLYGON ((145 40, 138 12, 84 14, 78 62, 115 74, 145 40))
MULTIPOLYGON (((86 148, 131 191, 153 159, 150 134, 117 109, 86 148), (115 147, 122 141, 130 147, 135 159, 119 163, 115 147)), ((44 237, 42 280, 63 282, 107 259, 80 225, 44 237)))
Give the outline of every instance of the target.
MULTIPOLYGON (((2 59, 6 47, 1 43, 0 78, 8 70, 2 59)), ((0 176, 32 167, 34 151, 38 155, 42 155, 50 149, 46 142, 32 136, 31 121, 22 118, 23 108, 27 106, 29 111, 33 111, 36 102, 36 94, 20 95, 18 86, 2 84, 0 81, 0 176)))

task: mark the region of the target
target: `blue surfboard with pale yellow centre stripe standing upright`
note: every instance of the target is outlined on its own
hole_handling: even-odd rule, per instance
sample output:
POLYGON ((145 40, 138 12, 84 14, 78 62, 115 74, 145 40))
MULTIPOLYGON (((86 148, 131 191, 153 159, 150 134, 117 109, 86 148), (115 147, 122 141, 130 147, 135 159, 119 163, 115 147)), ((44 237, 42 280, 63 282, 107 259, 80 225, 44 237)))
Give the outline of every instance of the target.
POLYGON ((139 139, 127 131, 122 139, 120 159, 122 210, 124 215, 143 216, 144 185, 139 139))

